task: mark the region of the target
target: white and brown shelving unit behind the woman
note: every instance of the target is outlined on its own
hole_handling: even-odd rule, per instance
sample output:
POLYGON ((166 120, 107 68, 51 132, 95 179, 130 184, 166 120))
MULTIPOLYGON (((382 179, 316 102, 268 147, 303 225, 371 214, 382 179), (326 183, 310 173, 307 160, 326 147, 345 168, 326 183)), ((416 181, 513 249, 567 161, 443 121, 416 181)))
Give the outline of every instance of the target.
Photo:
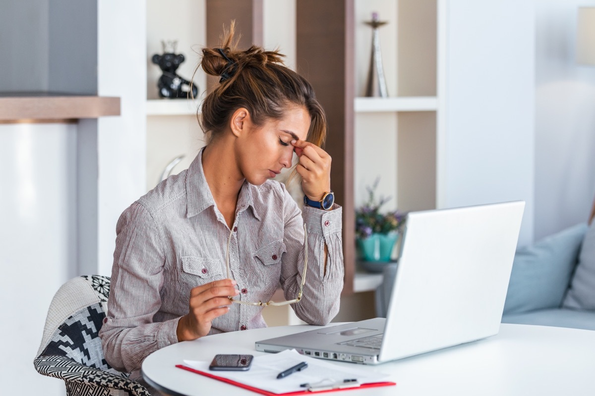
MULTIPOLYGON (((355 207, 365 199, 365 186, 371 185, 377 175, 381 175, 378 194, 393 197, 387 210, 439 206, 437 169, 443 137, 438 122, 441 97, 437 77, 440 52, 437 28, 443 1, 299 0, 288 3, 295 4, 296 70, 314 85, 330 125, 325 148, 333 157, 331 179, 337 202, 343 207, 344 293, 373 290, 381 281, 379 274, 356 273, 353 229, 355 207), (372 11, 378 11, 382 20, 389 21, 380 32, 389 94, 394 95, 389 98, 358 97, 363 93, 371 50, 371 30, 363 22, 372 11), (333 17, 328 18, 328 15, 333 17)), ((162 14, 153 7, 167 6, 156 0, 148 2, 147 36, 153 42, 148 43, 148 55, 157 50, 158 33, 153 29, 162 14)), ((198 62, 198 54, 187 49, 197 44, 215 45, 222 24, 231 18, 236 18, 244 46, 252 42, 264 43, 267 23, 271 24, 265 15, 265 7, 270 5, 262 0, 184 0, 180 7, 188 12, 196 11, 202 27, 164 26, 159 22, 161 25, 156 30, 164 36, 160 37, 162 39, 180 39, 183 47, 179 45, 179 52, 186 55, 183 64, 186 68, 180 68, 184 77, 192 75, 190 70, 198 62), (236 14, 232 15, 233 12, 236 14), (192 35, 196 38, 191 38, 192 35)), ((274 7, 280 6, 275 3, 274 7)), ((148 64, 149 79, 158 78, 155 68, 148 64)), ((196 80, 199 96, 203 97, 206 76, 199 71, 196 80)), ((156 91, 152 85, 148 83, 146 102, 148 188, 155 185, 157 180, 154 179, 174 157, 186 156, 174 169, 179 172, 189 166, 204 144, 196 121, 199 100, 155 99, 154 93, 150 93, 156 91), (171 148, 173 141, 176 141, 175 150, 171 148)))

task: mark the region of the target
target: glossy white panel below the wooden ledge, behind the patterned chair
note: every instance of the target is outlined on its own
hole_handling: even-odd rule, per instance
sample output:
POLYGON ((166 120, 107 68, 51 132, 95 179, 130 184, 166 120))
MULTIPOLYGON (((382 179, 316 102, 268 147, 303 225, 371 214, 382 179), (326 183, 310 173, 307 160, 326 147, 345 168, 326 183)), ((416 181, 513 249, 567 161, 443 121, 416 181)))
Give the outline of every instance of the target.
POLYGON ((33 359, 49 303, 76 275, 76 124, 0 124, 0 382, 65 394, 33 359))

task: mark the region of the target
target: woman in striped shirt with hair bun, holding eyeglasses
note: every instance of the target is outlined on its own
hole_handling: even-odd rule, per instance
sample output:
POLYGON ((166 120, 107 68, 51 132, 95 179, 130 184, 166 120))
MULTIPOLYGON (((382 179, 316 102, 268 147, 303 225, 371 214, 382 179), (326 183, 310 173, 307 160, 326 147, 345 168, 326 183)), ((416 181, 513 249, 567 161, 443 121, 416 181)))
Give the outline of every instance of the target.
POLYGON ((339 311, 342 210, 320 148, 324 112, 283 55, 236 44, 232 24, 221 48, 202 50, 204 71, 221 77, 202 105, 206 147, 118 220, 99 336, 107 362, 131 378, 162 347, 265 327, 261 311, 279 283, 309 324, 339 311), (294 152, 302 211, 270 180, 292 167, 294 152))

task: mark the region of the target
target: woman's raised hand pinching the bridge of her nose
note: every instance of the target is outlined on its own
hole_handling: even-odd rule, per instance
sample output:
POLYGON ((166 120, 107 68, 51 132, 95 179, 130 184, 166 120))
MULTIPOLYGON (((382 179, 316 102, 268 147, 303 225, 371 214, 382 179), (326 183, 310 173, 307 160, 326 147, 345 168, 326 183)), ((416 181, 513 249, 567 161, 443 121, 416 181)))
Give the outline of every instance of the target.
POLYGON ((292 144, 299 157, 296 170, 302 176, 303 192, 312 201, 320 201, 331 191, 331 156, 310 142, 292 140, 292 144))

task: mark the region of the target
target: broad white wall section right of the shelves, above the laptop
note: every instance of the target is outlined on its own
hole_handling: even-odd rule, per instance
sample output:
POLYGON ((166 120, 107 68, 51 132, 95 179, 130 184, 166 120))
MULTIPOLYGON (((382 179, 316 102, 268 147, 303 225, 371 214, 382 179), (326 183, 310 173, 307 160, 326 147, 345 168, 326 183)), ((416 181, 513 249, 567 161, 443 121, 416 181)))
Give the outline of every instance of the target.
POLYGON ((458 0, 447 12, 440 206, 524 199, 525 245, 534 212, 533 2, 458 0))

